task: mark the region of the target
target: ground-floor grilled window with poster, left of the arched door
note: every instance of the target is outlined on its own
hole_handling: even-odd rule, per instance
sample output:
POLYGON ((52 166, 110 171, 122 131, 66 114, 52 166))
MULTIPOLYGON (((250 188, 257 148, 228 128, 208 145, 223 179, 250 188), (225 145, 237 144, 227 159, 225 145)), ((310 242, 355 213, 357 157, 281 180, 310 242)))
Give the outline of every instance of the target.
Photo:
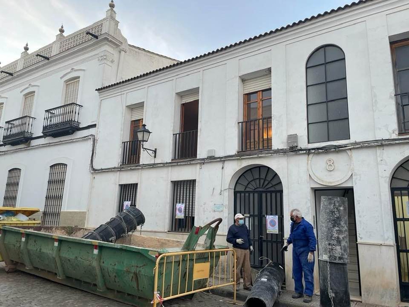
POLYGON ((196 180, 173 181, 171 231, 190 232, 195 223, 196 180), (183 218, 176 218, 177 204, 184 205, 183 218))

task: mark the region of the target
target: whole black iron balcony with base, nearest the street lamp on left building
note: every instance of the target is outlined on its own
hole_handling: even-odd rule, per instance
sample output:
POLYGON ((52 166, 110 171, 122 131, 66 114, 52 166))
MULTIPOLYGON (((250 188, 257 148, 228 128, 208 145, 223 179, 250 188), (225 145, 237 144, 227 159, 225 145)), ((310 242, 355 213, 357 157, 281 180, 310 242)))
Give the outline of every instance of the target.
POLYGON ((46 110, 42 134, 53 138, 72 135, 80 126, 81 108, 82 105, 69 103, 46 110))

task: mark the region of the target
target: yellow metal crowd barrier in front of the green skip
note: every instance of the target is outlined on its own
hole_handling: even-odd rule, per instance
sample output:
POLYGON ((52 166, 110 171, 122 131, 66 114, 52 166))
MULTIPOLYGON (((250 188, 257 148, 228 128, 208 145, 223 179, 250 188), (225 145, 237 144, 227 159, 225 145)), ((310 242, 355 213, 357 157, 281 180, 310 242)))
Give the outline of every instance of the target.
POLYGON ((156 259, 152 304, 153 307, 161 306, 162 302, 166 300, 225 286, 233 287, 233 303, 236 303, 236 252, 234 249, 165 253, 156 259), (196 262, 196 260, 199 262, 196 262), (170 276, 167 273, 168 266, 171 266, 170 276), (228 266, 230 274, 228 274, 228 266), (222 267, 224 268, 222 269, 222 267), (185 268, 186 274, 185 272, 182 274, 185 268), (224 276, 222 276, 223 272, 224 276), (215 273, 218 273, 218 277, 215 276, 215 273), (175 282, 175 285, 177 284, 177 293, 173 293, 173 290, 175 290, 173 288, 175 275, 177 278, 177 282, 175 282), (162 285, 159 282, 161 276, 162 285), (165 288, 166 279, 170 281, 170 286, 166 283, 167 287, 165 288), (185 287, 180 287, 181 283, 185 283, 185 287), (159 288, 160 286, 162 287, 159 288))

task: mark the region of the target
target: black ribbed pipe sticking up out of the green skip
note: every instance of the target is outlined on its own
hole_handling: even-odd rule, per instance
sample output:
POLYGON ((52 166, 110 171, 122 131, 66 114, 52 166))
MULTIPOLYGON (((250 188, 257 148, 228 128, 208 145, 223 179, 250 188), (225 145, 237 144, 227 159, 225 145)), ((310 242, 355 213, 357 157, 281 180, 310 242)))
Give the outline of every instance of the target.
POLYGON ((115 243, 116 240, 125 236, 128 232, 137 229, 139 225, 145 224, 145 216, 135 207, 129 207, 123 212, 112 217, 109 222, 100 225, 94 231, 88 232, 82 238, 103 242, 115 243))

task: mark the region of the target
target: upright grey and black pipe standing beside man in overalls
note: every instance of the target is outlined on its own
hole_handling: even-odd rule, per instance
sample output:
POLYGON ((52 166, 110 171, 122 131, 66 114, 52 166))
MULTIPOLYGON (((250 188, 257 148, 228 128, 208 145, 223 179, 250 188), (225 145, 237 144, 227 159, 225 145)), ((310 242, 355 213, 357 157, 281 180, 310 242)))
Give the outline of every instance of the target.
POLYGON ((350 307, 348 200, 338 196, 322 196, 320 214, 320 306, 350 307))

